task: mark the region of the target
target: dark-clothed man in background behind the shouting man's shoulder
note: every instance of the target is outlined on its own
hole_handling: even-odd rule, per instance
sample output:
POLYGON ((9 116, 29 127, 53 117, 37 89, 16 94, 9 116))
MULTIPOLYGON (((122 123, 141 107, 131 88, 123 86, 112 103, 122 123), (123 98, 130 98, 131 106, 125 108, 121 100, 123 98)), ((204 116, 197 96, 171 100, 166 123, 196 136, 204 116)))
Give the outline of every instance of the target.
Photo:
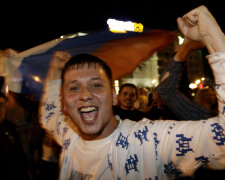
POLYGON ((147 117, 148 114, 138 111, 134 108, 134 103, 137 100, 138 92, 134 84, 125 83, 120 87, 118 100, 119 105, 113 106, 115 115, 119 115, 121 119, 130 119, 138 121, 147 117))

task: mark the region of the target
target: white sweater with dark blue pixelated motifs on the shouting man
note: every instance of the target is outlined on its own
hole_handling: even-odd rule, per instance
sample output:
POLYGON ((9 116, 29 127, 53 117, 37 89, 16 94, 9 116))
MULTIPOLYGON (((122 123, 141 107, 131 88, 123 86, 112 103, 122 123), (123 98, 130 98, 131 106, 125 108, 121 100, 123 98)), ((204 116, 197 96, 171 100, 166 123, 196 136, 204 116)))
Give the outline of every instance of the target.
POLYGON ((201 121, 120 121, 108 137, 84 141, 61 113, 60 80, 48 81, 40 119, 62 146, 60 179, 173 179, 206 164, 225 169, 225 52, 207 56, 218 93, 218 117, 201 121))

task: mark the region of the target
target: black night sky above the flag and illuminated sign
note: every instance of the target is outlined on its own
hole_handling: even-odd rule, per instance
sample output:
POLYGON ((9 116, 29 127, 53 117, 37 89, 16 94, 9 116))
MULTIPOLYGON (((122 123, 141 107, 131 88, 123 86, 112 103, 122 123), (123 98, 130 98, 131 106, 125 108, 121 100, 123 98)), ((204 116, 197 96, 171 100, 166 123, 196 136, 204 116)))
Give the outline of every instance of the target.
POLYGON ((4 3, 0 11, 0 49, 24 51, 61 35, 107 30, 108 18, 131 20, 152 29, 176 30, 176 18, 201 4, 209 8, 225 31, 225 10, 222 1, 121 2, 4 3))

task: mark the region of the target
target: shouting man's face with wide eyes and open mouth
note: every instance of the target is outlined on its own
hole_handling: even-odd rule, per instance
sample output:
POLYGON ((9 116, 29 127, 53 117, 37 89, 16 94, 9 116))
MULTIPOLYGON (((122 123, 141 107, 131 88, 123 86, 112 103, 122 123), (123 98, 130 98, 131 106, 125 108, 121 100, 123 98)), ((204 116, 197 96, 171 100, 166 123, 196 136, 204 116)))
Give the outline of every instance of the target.
POLYGON ((115 129, 116 94, 101 66, 71 68, 64 76, 63 109, 87 139, 101 139, 115 129), (95 138, 95 136, 97 138, 95 138), (93 137, 93 138, 92 138, 93 137))

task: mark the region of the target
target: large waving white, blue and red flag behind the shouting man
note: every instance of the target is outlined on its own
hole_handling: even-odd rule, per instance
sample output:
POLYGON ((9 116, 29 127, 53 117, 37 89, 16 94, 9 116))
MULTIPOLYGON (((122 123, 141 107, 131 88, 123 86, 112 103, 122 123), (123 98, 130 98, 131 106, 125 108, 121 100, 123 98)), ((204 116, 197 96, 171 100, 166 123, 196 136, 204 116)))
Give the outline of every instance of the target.
POLYGON ((55 51, 66 51, 72 56, 90 53, 104 60, 112 69, 113 79, 130 74, 140 62, 164 49, 176 38, 176 33, 150 30, 144 33, 92 32, 86 36, 68 35, 18 53, 7 59, 2 75, 9 90, 33 94, 40 99, 43 82, 55 51))

